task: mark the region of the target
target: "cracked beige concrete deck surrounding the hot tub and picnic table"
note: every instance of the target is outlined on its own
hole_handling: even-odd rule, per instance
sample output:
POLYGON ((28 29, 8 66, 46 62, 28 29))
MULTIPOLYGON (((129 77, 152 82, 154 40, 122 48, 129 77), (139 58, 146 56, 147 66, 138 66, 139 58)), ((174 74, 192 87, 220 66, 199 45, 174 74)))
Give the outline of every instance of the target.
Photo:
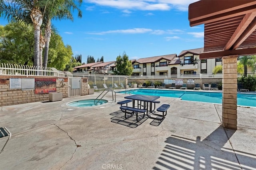
POLYGON ((101 106, 66 106, 98 95, 1 107, 0 127, 12 137, 0 169, 256 170, 255 107, 238 107, 238 130, 232 130, 221 125, 220 104, 161 97, 171 105, 166 118, 139 123, 120 113, 116 102, 125 94, 117 93, 116 102, 107 94, 110 102, 101 106))

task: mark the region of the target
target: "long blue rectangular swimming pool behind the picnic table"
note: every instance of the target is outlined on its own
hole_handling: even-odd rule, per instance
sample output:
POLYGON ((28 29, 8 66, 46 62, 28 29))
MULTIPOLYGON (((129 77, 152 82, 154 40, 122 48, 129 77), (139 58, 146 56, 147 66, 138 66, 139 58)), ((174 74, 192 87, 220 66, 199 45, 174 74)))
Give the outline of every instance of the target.
MULTIPOLYGON (((125 93, 125 91, 120 92, 120 93, 125 93)), ((126 93, 127 93, 127 91, 126 91, 126 93)), ((151 96, 181 98, 182 100, 188 100, 188 101, 194 101, 194 102, 208 102, 208 103, 222 104, 222 93, 221 92, 137 89, 137 90, 132 90, 131 93, 132 94, 151 95, 151 96)), ((256 95, 255 94, 238 93, 237 94, 237 105, 256 107, 256 95)))

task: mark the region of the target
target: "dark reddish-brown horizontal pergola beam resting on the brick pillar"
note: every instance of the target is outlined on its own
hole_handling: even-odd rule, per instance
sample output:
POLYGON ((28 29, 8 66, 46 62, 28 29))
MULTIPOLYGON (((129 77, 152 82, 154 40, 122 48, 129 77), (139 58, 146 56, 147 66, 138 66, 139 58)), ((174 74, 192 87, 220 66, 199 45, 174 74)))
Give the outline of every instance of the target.
POLYGON ((256 47, 247 49, 227 50, 227 51, 216 51, 209 53, 201 53, 199 59, 215 59, 229 55, 255 55, 256 47))

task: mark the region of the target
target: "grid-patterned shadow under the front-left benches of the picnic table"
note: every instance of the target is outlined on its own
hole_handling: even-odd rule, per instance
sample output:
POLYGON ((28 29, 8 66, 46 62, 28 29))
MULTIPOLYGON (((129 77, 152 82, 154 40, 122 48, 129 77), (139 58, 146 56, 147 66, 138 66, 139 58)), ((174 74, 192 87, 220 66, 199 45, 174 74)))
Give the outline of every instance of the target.
POLYGON ((148 117, 145 115, 143 119, 141 119, 143 117, 143 114, 138 113, 138 119, 141 119, 140 121, 137 122, 136 120, 136 116, 134 115, 126 115, 126 117, 128 117, 127 119, 124 116, 124 112, 122 112, 121 110, 119 111, 115 111, 113 113, 110 113, 110 115, 114 115, 114 117, 111 117, 113 123, 118 123, 120 125, 125 125, 127 127, 131 127, 131 128, 135 128, 138 127, 139 125, 141 125, 144 121, 146 121, 146 119, 148 119, 148 117))

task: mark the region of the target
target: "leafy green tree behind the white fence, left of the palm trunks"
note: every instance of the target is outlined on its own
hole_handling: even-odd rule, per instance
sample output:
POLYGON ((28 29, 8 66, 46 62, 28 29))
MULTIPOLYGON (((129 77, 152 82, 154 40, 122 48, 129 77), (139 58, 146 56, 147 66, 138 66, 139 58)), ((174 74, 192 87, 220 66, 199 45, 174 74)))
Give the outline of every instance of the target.
POLYGON ((0 25, 0 63, 33 65, 34 37, 31 25, 0 25))

